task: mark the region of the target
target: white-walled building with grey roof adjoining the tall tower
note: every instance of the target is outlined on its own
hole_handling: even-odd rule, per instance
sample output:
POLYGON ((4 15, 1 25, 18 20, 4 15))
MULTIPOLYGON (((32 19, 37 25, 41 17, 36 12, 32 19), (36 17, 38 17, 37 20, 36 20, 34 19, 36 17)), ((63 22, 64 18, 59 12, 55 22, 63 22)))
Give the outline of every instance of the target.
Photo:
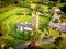
POLYGON ((32 30, 32 24, 25 23, 18 23, 16 32, 22 33, 23 30, 32 30))

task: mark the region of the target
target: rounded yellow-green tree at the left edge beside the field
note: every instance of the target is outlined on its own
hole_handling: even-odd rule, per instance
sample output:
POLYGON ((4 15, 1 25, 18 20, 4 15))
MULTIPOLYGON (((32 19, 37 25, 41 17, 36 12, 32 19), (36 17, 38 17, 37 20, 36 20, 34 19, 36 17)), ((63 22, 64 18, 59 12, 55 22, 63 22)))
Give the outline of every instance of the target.
POLYGON ((3 36, 8 35, 10 33, 10 27, 9 27, 9 24, 4 21, 4 22, 1 22, 1 34, 3 36))

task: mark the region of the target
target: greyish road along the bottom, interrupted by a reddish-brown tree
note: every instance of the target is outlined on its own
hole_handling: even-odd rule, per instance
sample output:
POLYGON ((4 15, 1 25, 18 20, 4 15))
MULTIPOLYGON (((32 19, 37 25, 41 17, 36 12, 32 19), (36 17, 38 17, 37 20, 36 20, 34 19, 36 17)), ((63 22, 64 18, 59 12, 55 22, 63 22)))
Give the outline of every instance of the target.
MULTIPOLYGON (((42 41, 36 42, 36 46, 43 45, 43 44, 51 44, 51 42, 54 42, 54 41, 55 41, 55 39, 53 39, 53 38, 44 39, 42 41)), ((24 48, 28 48, 28 45, 29 45, 29 42, 28 44, 22 44, 22 45, 15 46, 13 48, 14 49, 24 49, 24 48)))

